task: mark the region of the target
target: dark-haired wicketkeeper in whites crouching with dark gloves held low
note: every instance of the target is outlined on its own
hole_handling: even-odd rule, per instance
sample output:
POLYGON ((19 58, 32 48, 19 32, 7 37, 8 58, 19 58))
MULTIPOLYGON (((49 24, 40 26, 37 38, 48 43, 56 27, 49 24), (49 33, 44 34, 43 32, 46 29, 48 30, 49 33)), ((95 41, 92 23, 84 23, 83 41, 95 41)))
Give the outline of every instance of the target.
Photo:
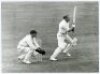
POLYGON ((19 42, 17 49, 19 52, 18 59, 26 64, 42 62, 42 56, 46 53, 42 48, 42 41, 37 38, 37 31, 35 30, 31 30, 30 34, 19 42))

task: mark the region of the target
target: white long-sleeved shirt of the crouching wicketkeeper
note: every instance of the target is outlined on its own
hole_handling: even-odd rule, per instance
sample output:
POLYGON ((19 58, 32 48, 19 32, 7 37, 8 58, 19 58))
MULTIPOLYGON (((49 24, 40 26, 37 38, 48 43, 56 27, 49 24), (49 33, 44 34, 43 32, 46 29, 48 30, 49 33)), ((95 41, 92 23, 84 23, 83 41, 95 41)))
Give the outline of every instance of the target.
POLYGON ((32 49, 36 49, 39 46, 36 38, 32 38, 31 35, 26 35, 18 44, 18 46, 30 47, 32 49))

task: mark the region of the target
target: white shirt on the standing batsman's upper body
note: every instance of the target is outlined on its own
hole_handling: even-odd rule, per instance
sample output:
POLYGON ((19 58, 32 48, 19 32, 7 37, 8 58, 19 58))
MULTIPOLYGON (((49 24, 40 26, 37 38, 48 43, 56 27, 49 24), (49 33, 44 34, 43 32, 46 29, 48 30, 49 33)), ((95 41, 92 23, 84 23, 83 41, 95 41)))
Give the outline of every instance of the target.
POLYGON ((69 23, 67 23, 65 20, 62 20, 59 23, 59 31, 58 31, 58 33, 65 33, 68 30, 69 30, 69 23))

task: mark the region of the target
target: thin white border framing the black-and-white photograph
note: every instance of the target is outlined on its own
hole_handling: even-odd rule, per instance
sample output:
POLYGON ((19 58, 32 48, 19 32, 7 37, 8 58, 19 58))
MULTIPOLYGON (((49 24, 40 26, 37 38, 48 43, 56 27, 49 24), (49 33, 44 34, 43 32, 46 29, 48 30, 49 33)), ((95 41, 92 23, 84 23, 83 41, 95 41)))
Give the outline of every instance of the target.
MULTIPOLYGON (((99 14, 100 14, 100 1, 99 0, 0 0, 0 73, 2 74, 2 40, 1 40, 1 2, 31 2, 31 1, 46 1, 46 2, 62 2, 62 1, 66 1, 66 2, 76 2, 76 1, 86 1, 86 2, 91 2, 91 1, 98 1, 99 2, 99 14)), ((99 16, 100 18, 100 16, 99 16)), ((100 19, 99 19, 100 21, 100 19)), ((99 24, 99 28, 100 28, 100 24, 99 24)), ((100 30, 99 30, 99 35, 100 35, 100 30)), ((100 42, 100 36, 99 36, 99 42, 100 42)), ((100 44, 99 44, 99 48, 100 48, 100 44)), ((99 51, 100 53, 100 51, 99 51)), ((100 55, 99 55, 99 60, 100 60, 100 55)), ((100 63, 100 62, 99 62, 100 63)), ((99 64, 100 67, 100 64, 99 64)), ((100 71, 100 69, 99 69, 100 71)), ((4 74, 8 74, 8 73, 4 73, 4 74)), ((14 73, 14 74, 19 74, 19 73, 14 73)), ((44 73, 21 73, 21 74, 44 74, 44 73)), ((51 73, 45 73, 45 74, 51 74, 51 73)), ((52 74, 58 74, 58 73, 52 73, 52 74)), ((59 73, 59 74, 99 74, 99 72, 97 73, 59 73)))

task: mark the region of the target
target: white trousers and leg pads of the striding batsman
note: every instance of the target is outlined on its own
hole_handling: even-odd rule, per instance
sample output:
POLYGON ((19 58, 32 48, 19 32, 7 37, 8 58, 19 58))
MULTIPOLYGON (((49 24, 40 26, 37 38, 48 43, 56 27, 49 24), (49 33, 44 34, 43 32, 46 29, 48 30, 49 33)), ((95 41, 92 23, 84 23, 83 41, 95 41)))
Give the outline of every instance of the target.
MULTIPOLYGON (((58 47, 55 49, 53 54, 51 55, 51 58, 56 58, 60 52, 68 52, 69 47, 70 47, 70 42, 73 41, 73 39, 68 35, 63 35, 61 33, 57 34, 57 39, 58 39, 58 47)), ((77 40, 77 39, 76 39, 77 40)))

